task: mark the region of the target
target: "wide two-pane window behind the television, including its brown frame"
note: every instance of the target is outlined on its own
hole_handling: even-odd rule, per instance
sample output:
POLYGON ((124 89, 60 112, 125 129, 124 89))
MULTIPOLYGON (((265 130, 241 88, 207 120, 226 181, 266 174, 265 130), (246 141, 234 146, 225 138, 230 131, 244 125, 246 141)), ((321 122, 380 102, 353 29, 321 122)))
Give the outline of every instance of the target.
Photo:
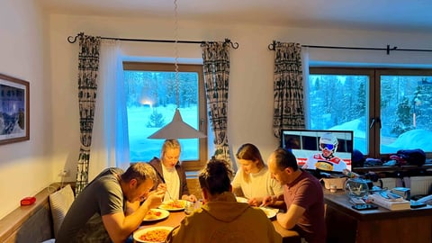
POLYGON ((308 128, 353 130, 369 157, 432 152, 432 70, 311 67, 305 90, 308 128))

